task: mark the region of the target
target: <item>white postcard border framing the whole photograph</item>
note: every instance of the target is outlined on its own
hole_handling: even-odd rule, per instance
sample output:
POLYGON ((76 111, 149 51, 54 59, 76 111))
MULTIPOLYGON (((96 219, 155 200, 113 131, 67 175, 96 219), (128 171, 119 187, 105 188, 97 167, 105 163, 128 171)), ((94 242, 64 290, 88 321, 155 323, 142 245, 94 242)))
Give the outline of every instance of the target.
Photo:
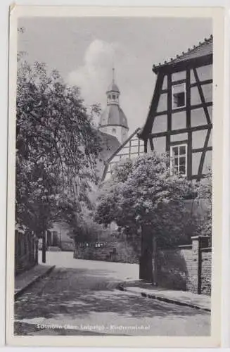
POLYGON ((224 8, 160 8, 106 6, 12 6, 10 17, 10 77, 8 122, 8 213, 6 277, 6 342, 11 346, 135 346, 135 347, 217 347, 221 333, 222 281, 222 134, 224 119, 224 8), (212 334, 210 337, 15 337, 13 336, 14 218, 15 218, 15 93, 17 19, 26 16, 134 16, 212 17, 214 35, 213 76, 213 254, 212 334))

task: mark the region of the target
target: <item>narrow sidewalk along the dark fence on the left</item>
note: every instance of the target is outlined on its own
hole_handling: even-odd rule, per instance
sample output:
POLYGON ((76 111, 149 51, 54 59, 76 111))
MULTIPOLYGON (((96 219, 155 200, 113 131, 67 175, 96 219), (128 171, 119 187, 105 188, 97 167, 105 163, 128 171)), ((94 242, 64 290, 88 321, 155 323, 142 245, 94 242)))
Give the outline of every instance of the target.
POLYGON ((37 264, 30 270, 22 272, 15 277, 14 298, 18 298, 26 289, 42 277, 49 275, 55 265, 37 264))

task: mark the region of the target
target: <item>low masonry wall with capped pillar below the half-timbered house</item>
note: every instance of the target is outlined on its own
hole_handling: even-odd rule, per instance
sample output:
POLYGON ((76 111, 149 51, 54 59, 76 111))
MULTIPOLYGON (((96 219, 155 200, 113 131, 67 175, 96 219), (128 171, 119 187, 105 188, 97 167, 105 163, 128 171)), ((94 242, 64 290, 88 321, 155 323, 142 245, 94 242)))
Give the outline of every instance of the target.
POLYGON ((193 237, 192 244, 158 249, 157 282, 160 287, 211 294, 212 249, 208 237, 193 237))

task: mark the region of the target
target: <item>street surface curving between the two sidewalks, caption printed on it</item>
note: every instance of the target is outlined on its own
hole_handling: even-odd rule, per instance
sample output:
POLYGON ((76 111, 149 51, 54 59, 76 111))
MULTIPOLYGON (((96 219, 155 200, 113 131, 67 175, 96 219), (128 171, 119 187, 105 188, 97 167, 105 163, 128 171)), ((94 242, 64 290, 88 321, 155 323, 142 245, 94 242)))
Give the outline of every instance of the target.
POLYGON ((16 335, 207 336, 210 313, 117 290, 138 265, 47 253, 56 268, 15 301, 16 335))

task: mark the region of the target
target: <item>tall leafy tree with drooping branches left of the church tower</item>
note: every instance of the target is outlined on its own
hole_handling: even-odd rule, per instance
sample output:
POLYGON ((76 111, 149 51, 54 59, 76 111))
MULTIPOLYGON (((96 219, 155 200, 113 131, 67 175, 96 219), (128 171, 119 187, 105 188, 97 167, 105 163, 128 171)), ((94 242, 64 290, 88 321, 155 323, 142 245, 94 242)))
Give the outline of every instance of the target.
MULTIPOLYGON (((100 138, 77 87, 18 56, 16 222, 44 233, 89 206, 100 138)), ((97 113, 97 111, 96 111, 97 113)))

